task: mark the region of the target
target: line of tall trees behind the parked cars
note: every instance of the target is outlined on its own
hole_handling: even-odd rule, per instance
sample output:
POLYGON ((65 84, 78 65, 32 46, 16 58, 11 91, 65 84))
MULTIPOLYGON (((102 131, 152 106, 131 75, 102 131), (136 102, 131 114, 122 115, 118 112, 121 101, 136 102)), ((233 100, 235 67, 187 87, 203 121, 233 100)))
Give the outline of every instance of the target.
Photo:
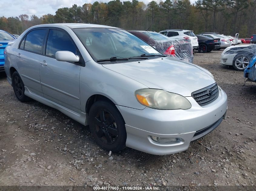
POLYGON ((120 27, 126 30, 188 29, 194 33, 219 32, 248 38, 256 33, 256 0, 189 0, 151 1, 147 5, 137 0, 95 1, 82 6, 59 8, 55 15, 42 17, 21 14, 0 17, 0 29, 21 34, 37 24, 90 23, 120 27))

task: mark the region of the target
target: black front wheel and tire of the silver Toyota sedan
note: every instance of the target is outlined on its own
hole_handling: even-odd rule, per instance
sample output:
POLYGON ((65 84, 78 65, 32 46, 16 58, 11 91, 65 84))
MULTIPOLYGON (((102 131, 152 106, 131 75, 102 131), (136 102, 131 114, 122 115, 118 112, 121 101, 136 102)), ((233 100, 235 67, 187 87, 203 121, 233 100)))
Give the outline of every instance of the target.
POLYGON ((96 101, 89 111, 89 126, 95 141, 107 151, 125 148, 125 121, 114 104, 96 101))

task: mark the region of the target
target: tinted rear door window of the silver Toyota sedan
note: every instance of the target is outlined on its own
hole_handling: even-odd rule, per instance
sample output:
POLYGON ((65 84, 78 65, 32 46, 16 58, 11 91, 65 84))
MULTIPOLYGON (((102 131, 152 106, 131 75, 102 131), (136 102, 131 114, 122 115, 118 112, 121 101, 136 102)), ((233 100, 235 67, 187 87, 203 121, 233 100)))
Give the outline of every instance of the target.
POLYGON ((29 32, 25 40, 24 49, 40 54, 45 40, 45 34, 46 29, 32 30, 29 32))

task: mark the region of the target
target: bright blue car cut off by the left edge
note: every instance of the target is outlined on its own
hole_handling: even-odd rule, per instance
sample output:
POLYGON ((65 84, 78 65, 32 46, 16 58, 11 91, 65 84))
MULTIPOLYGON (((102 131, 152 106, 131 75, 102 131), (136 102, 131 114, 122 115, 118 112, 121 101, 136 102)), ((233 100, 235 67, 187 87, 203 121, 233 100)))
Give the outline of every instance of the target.
POLYGON ((14 41, 16 38, 4 30, 0 30, 0 72, 5 71, 4 64, 4 50, 9 42, 14 41))

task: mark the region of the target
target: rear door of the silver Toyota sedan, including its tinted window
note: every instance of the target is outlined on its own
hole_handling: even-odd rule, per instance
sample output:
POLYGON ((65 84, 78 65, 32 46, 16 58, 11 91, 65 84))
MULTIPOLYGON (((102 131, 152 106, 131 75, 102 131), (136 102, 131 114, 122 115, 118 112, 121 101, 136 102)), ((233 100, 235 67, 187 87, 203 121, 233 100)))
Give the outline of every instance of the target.
POLYGON ((29 91, 42 97, 39 59, 42 55, 46 32, 45 28, 29 31, 19 44, 15 60, 24 85, 29 91))

